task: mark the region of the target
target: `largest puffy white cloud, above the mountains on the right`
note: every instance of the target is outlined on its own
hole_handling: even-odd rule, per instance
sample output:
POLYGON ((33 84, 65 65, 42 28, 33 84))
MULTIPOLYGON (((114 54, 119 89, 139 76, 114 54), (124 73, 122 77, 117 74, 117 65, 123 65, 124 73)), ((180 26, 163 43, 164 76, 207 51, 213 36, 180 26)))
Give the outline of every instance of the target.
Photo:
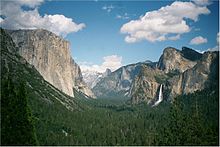
POLYGON ((197 21, 199 15, 209 14, 207 7, 192 2, 173 2, 159 10, 147 12, 138 20, 131 20, 121 27, 121 33, 127 34, 125 41, 134 43, 141 40, 150 42, 175 40, 179 35, 190 32, 187 19, 197 21), (176 37, 167 37, 167 36, 176 37))

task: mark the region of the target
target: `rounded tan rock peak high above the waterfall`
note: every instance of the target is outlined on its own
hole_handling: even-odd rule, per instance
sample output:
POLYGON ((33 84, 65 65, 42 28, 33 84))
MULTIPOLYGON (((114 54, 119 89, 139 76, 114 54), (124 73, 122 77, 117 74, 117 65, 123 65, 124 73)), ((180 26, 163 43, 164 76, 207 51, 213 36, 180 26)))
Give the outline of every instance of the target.
MULTIPOLYGON (((183 53, 186 51, 183 50, 183 53)), ((181 51, 168 47, 163 51, 162 56, 159 59, 157 67, 166 73, 170 71, 178 71, 180 73, 192 68, 196 64, 196 61, 189 60, 184 57, 181 51)))

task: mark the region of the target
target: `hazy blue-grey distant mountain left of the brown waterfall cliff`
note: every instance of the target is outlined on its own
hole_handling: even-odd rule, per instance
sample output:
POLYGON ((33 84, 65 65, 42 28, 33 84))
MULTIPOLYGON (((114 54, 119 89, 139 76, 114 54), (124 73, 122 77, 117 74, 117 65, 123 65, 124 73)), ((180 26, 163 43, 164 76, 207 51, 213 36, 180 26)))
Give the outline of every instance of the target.
POLYGON ((128 96, 132 81, 141 69, 140 66, 140 64, 127 65, 110 73, 93 87, 94 94, 101 98, 128 96))

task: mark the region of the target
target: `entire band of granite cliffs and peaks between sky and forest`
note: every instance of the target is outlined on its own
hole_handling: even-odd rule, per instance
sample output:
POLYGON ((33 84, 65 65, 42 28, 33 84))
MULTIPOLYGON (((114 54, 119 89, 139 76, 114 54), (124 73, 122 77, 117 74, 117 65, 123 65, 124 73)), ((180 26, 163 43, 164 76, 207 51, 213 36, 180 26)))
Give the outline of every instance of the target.
POLYGON ((132 103, 157 101, 162 85, 164 99, 193 93, 209 86, 218 75, 218 52, 203 54, 183 47, 164 49, 158 62, 146 60, 105 73, 81 72, 70 55, 69 43, 42 29, 5 30, 16 51, 41 76, 65 94, 74 90, 91 98, 129 98, 132 103))

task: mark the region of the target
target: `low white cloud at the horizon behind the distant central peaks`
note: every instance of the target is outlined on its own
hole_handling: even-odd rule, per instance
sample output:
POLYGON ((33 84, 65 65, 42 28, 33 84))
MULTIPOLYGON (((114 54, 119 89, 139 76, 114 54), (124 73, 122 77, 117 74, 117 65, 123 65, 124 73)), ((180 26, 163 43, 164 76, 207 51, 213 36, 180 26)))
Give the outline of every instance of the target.
POLYGON ((114 71, 122 66, 122 57, 117 55, 103 57, 103 63, 101 65, 91 64, 88 62, 79 62, 82 72, 100 72, 103 73, 107 68, 114 71))

